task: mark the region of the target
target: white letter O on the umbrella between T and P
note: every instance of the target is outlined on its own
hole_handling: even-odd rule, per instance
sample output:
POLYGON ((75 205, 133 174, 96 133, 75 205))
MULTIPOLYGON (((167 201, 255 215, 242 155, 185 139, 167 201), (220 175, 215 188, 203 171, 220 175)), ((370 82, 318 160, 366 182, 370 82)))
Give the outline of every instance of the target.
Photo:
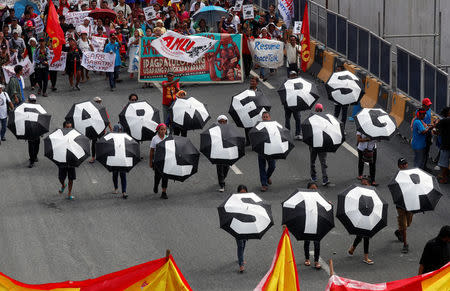
POLYGON ((356 187, 345 196, 345 213, 352 224, 357 228, 372 230, 373 226, 383 217, 383 202, 381 202, 377 193, 370 189, 356 187), (366 216, 359 210, 359 199, 361 196, 372 198, 373 210, 370 215, 366 216))

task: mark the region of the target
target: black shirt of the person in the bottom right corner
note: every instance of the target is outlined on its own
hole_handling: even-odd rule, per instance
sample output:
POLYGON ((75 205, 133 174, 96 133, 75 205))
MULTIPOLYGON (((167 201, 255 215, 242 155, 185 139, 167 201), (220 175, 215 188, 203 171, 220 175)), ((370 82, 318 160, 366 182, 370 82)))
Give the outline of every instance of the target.
POLYGON ((449 244, 439 238, 427 242, 420 258, 420 264, 424 266, 424 274, 441 268, 449 261, 449 244))

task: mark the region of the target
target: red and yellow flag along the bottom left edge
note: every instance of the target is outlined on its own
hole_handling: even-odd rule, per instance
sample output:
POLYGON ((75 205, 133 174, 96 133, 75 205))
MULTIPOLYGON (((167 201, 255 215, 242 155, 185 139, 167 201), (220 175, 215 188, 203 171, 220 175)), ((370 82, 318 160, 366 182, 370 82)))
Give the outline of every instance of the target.
POLYGON ((173 257, 164 257, 128 269, 84 281, 31 285, 0 273, 0 290, 14 291, 192 291, 173 257))

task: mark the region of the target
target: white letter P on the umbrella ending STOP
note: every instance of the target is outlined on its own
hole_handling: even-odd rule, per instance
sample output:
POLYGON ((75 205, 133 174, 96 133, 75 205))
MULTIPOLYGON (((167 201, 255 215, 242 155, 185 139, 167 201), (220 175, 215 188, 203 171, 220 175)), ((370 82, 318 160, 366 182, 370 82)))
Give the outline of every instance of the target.
POLYGON ((405 201, 405 207, 408 211, 420 209, 419 196, 427 195, 433 190, 433 178, 415 169, 398 172, 395 181, 402 190, 403 200, 405 201), (419 184, 413 182, 411 179, 412 174, 419 176, 419 184))

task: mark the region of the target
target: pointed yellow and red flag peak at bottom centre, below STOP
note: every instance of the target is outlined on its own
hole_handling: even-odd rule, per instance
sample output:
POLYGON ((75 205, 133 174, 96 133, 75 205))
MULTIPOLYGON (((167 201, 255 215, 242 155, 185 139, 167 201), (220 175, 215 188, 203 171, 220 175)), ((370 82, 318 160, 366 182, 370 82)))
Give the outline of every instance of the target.
POLYGON ((267 274, 256 286, 255 291, 300 290, 297 265, 292 251, 291 239, 287 227, 281 235, 277 252, 267 274))

